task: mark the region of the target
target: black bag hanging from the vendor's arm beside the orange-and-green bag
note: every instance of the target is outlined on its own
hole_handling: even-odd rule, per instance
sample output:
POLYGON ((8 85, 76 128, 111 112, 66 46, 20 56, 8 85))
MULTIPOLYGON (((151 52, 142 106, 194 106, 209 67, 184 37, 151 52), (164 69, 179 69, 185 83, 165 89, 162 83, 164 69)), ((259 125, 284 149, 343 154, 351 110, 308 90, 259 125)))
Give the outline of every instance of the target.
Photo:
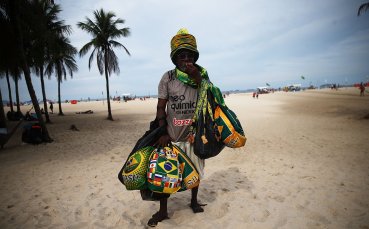
MULTIPOLYGON (((208 100, 205 103, 210 103, 212 113, 215 110, 214 97, 210 90, 207 91, 208 100)), ((207 104, 205 104, 207 106, 207 104)), ((220 139, 218 127, 213 119, 210 117, 209 110, 206 113, 200 112, 198 116, 195 133, 194 153, 201 159, 207 159, 218 155, 225 147, 220 139), (204 117, 205 116, 205 117, 204 117)))

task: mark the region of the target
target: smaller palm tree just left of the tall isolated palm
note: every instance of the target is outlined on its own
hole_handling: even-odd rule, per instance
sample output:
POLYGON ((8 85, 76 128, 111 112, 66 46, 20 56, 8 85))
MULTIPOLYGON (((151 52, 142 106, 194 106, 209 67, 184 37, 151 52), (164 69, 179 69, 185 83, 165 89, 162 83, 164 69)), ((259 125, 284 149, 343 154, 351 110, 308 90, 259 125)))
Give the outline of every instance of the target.
POLYGON ((46 74, 50 76, 55 71, 58 80, 58 115, 64 115, 61 107, 60 84, 63 82, 63 78, 67 79, 67 73, 73 77, 73 72, 78 70, 74 60, 75 54, 77 54, 77 49, 70 44, 69 39, 59 36, 51 49, 50 59, 46 65, 46 74))

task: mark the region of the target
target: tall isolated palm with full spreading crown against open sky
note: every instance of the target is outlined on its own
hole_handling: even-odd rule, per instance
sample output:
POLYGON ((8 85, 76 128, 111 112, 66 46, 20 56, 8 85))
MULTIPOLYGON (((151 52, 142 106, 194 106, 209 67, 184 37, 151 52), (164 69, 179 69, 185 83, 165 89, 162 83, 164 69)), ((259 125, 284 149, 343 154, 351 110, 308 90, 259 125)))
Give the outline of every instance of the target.
POLYGON ((106 98, 108 101, 108 119, 113 120, 110 107, 109 76, 112 72, 119 74, 118 57, 113 48, 121 47, 128 55, 131 55, 128 49, 121 43, 113 40, 130 35, 129 28, 118 28, 119 24, 124 24, 124 20, 114 19, 113 12, 105 12, 103 9, 94 11, 95 21, 86 17, 85 22, 77 23, 77 26, 92 35, 92 40, 85 44, 79 51, 80 56, 84 56, 90 48, 93 51, 89 58, 88 68, 91 69, 91 63, 96 55, 97 67, 101 75, 105 72, 106 80, 106 98))

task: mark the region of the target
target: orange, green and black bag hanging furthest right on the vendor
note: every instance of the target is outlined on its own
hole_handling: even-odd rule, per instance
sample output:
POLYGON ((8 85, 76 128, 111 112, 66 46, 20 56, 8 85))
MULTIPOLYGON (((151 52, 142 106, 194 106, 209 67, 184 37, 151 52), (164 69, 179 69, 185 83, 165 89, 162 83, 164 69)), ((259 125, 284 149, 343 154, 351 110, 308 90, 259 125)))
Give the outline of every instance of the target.
POLYGON ((223 143, 231 148, 245 145, 246 137, 236 114, 227 106, 217 105, 214 112, 214 121, 223 143))

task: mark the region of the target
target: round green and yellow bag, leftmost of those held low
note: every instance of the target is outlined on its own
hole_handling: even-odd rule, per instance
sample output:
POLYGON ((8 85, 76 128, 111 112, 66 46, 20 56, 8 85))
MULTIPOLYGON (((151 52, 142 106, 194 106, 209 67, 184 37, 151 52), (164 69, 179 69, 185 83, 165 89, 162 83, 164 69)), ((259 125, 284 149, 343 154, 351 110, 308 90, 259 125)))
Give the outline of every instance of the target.
POLYGON ((154 147, 146 146, 128 157, 121 170, 122 183, 127 190, 141 190, 147 187, 147 165, 154 150, 154 147))

